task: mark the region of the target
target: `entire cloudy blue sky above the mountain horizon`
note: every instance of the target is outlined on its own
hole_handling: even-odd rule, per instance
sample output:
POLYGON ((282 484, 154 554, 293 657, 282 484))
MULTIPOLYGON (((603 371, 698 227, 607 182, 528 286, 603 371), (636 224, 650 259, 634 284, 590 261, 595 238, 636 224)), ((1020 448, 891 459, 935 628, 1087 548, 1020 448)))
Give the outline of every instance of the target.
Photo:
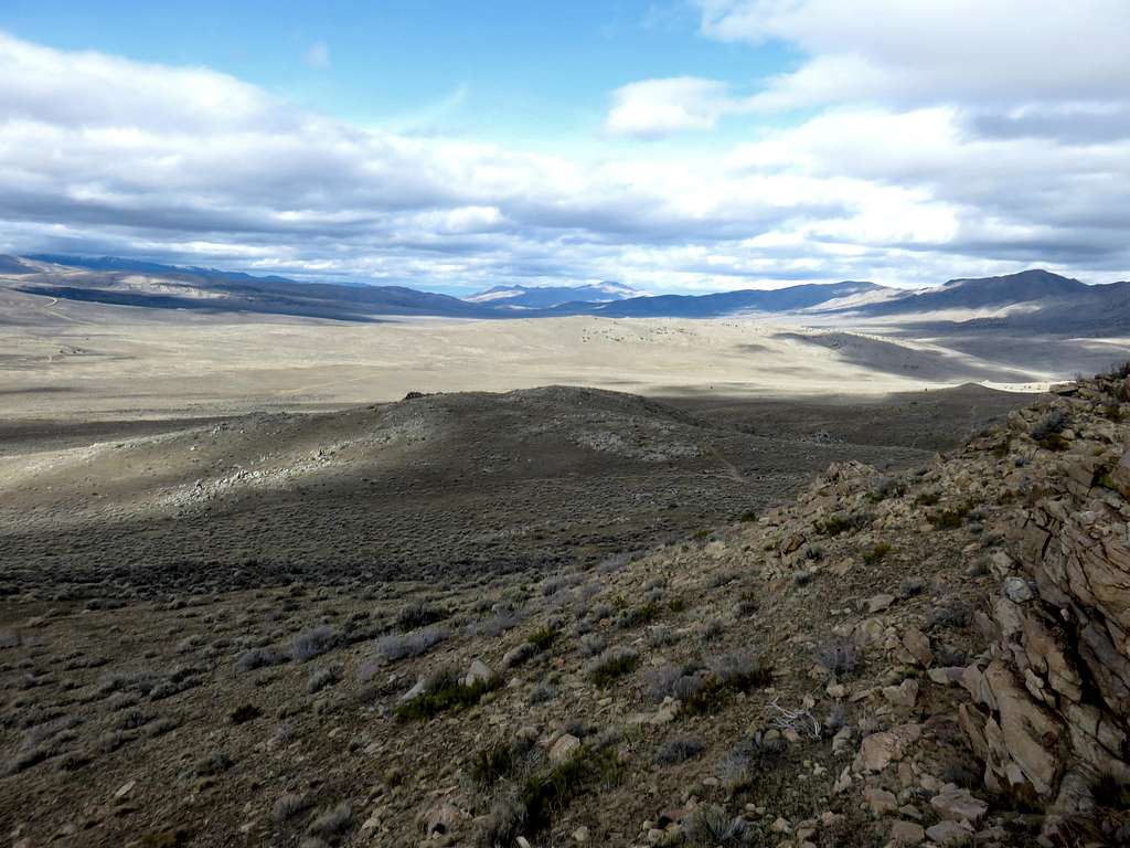
POLYGON ((0 251, 467 293, 1130 278, 1127 0, 0 5, 0 251))

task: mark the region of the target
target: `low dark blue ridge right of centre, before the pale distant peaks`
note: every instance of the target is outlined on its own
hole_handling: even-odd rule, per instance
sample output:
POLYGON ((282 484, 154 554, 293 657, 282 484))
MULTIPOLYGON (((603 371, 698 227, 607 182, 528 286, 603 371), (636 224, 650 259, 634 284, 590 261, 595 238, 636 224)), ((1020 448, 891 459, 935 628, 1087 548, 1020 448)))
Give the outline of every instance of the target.
POLYGON ((750 288, 716 294, 629 297, 605 304, 566 303, 554 312, 607 318, 721 318, 742 312, 794 312, 841 297, 885 291, 887 289, 875 283, 806 284, 788 288, 750 288))

